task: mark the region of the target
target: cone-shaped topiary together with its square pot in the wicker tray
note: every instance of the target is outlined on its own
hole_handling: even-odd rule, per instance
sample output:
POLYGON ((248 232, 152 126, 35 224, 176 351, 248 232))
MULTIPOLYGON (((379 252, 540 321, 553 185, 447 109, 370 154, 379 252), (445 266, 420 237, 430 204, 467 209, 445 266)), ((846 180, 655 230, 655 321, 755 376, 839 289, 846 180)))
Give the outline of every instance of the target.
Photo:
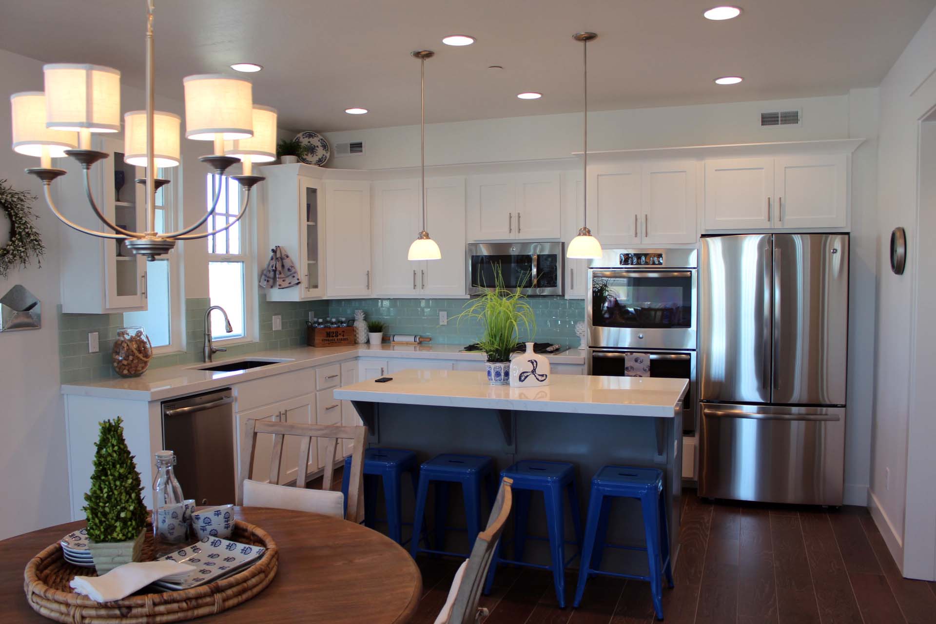
POLYGON ((139 561, 146 530, 146 506, 137 464, 124 440, 123 419, 100 423, 95 472, 82 508, 88 516, 88 548, 98 574, 139 561))

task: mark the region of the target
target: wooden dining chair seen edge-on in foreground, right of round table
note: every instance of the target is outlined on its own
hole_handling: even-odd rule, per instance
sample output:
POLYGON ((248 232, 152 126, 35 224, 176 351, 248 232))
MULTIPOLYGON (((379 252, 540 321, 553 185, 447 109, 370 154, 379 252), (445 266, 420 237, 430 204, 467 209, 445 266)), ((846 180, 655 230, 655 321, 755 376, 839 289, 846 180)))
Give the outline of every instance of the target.
POLYGON ((481 598, 481 589, 484 588, 484 581, 488 576, 494 547, 501 539, 513 505, 511 484, 513 480, 508 477, 501 481, 494 507, 490 510, 488 527, 477 534, 471 556, 465 559, 455 573, 446 604, 435 618, 435 624, 479 624, 488 617, 488 610, 478 608, 477 602, 481 598))

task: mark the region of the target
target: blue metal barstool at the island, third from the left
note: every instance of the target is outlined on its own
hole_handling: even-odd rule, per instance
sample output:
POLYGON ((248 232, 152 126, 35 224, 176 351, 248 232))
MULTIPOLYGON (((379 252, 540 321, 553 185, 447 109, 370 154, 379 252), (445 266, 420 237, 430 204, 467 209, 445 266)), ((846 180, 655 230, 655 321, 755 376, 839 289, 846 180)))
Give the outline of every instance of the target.
POLYGON ((576 468, 563 461, 536 461, 524 459, 501 472, 501 477, 513 479, 514 497, 517 501, 517 515, 514 516, 514 559, 504 559, 501 548, 504 541, 497 544, 493 559, 490 561, 488 579, 484 586, 484 593, 490 593, 494 583, 494 573, 499 563, 512 563, 514 565, 539 568, 552 571, 552 580, 556 588, 556 598, 559 607, 565 608, 565 566, 572 559, 565 559, 565 514, 563 498, 568 496, 569 506, 572 509, 572 523, 575 525, 576 541, 571 544, 578 545, 578 553, 582 547, 582 520, 578 505, 578 486, 576 485, 576 468), (530 497, 532 492, 543 493, 543 504, 546 507, 546 525, 548 537, 527 537, 527 522, 530 517, 530 497), (547 540, 549 542, 549 565, 526 563, 523 551, 527 539, 547 540))

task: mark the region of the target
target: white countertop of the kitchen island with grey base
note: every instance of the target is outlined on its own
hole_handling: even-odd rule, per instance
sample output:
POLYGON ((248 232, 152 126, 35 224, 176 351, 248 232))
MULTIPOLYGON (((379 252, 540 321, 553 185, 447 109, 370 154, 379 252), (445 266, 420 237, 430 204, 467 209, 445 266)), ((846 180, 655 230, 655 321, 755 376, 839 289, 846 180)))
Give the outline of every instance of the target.
POLYGON ((335 388, 335 399, 474 407, 491 410, 612 414, 672 418, 689 386, 685 379, 551 375, 550 385, 490 385, 483 372, 402 370, 392 381, 372 380, 335 388))

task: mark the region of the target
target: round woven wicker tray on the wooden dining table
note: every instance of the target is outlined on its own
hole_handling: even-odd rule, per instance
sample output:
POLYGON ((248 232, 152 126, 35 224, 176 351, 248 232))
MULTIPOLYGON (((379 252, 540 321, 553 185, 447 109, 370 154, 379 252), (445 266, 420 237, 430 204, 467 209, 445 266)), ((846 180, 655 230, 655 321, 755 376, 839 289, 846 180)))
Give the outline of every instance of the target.
MULTIPOLYGON (((270 585, 276 575, 279 550, 269 533, 236 520, 231 539, 265 546, 267 551, 241 573, 208 585, 183 591, 135 594, 103 603, 76 594, 68 587, 74 576, 95 576, 95 571, 71 565, 63 558, 61 546, 51 544, 26 566, 26 600, 39 615, 68 624, 149 624, 211 616, 250 600, 270 585)), ((143 559, 152 559, 152 553, 153 538, 148 535, 143 544, 143 559)))

